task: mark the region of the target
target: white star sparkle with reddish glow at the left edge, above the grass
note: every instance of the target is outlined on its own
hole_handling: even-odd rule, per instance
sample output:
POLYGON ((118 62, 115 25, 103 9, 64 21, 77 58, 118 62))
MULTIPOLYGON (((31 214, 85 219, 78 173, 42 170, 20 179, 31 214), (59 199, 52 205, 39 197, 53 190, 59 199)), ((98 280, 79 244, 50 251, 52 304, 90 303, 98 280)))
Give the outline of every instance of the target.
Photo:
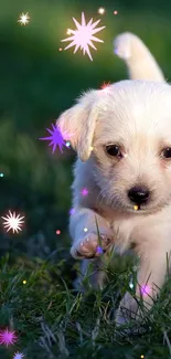
POLYGON ((2 217, 4 220, 3 226, 7 229, 7 232, 10 230, 12 230, 13 233, 22 231, 21 225, 24 223, 24 221, 22 221, 23 218, 24 217, 20 217, 20 214, 15 215, 15 212, 11 213, 11 211, 9 211, 9 215, 7 214, 7 217, 2 217))

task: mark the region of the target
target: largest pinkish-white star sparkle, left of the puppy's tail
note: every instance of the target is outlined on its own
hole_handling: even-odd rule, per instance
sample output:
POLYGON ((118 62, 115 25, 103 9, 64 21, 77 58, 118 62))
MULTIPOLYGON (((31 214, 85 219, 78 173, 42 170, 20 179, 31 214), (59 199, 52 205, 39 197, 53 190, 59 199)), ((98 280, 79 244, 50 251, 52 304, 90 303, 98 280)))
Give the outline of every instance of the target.
POLYGON ((72 43, 67 45, 64 50, 75 46, 74 53, 76 53, 77 50, 81 47, 81 50, 83 50, 83 54, 85 55, 85 53, 87 53, 89 59, 93 61, 88 46, 92 46, 93 49, 97 50, 92 41, 93 40, 96 42, 104 42, 104 41, 94 36, 94 34, 105 29, 106 27, 95 29, 100 20, 97 20, 96 22, 93 23, 93 19, 90 19, 89 22, 86 24, 84 12, 82 12, 82 24, 79 24, 77 20, 74 18, 73 21, 75 22, 76 30, 70 29, 70 33, 73 34, 73 36, 62 40, 63 42, 72 40, 72 43))

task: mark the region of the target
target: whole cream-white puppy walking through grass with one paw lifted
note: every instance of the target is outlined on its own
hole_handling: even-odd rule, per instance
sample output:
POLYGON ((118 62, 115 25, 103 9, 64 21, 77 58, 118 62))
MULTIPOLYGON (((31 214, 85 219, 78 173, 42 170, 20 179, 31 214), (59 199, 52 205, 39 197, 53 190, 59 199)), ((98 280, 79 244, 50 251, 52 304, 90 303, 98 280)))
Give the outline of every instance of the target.
MULTIPOLYGON (((72 134, 78 155, 71 254, 84 258, 83 276, 88 258, 95 268, 104 265, 97 223, 104 252, 118 246, 124 253, 133 245, 140 260, 136 295, 150 308, 163 285, 171 250, 171 86, 136 35, 119 35, 115 52, 131 80, 88 91, 57 122, 63 134, 72 134)), ((100 286, 103 276, 104 271, 95 271, 93 285, 100 286)), ((126 320, 122 307, 138 318, 137 302, 127 293, 118 324, 126 320)))

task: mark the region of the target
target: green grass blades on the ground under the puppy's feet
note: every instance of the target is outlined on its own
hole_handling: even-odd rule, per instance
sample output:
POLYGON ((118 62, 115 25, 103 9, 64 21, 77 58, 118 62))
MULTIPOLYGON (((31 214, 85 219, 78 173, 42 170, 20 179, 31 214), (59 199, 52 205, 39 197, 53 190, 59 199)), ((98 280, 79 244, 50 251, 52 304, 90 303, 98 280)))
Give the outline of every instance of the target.
MULTIPOLYGON (((171 281, 161 289, 154 307, 145 317, 143 334, 128 335, 116 328, 114 314, 119 299, 130 289, 135 273, 132 258, 120 258, 107 270, 103 291, 86 294, 72 287, 76 275, 74 261, 66 251, 49 258, 29 260, 10 255, 0 262, 0 324, 17 330, 17 345, 0 346, 0 358, 12 358, 15 351, 25 358, 171 358, 171 281), (23 284, 23 281, 26 281, 23 284)), ((138 328, 133 320, 126 327, 138 328)))

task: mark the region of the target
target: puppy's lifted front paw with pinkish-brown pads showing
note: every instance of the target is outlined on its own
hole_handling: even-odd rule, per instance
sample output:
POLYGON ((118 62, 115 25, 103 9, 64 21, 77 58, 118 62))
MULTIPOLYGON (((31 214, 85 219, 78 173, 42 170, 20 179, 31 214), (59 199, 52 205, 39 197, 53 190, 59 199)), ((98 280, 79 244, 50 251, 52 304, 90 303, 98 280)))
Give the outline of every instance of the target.
POLYGON ((98 235, 89 233, 84 239, 75 242, 71 249, 74 258, 94 258, 105 253, 113 242, 111 235, 100 234, 100 244, 98 235))

